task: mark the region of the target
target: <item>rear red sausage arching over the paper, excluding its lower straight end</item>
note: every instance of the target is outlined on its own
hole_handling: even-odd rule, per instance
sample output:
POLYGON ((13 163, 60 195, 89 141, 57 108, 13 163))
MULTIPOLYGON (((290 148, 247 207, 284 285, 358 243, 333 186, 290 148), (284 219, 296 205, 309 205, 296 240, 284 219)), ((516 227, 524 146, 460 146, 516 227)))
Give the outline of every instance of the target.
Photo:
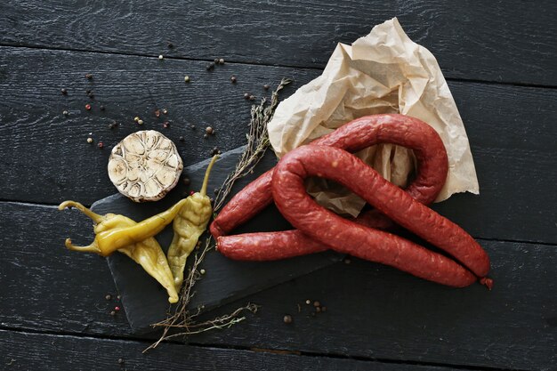
MULTIPOLYGON (((312 142, 349 152, 379 143, 414 149, 418 174, 406 191, 425 205, 432 203, 447 179, 448 159, 439 134, 423 121, 399 114, 360 117, 312 142)), ((228 234, 270 205, 272 173, 273 169, 263 173, 230 199, 211 223, 210 231, 214 238, 228 234)), ((358 221, 372 228, 387 229, 392 226, 388 218, 375 211, 360 214, 358 221)), ((225 240, 222 242, 224 244, 225 240)))

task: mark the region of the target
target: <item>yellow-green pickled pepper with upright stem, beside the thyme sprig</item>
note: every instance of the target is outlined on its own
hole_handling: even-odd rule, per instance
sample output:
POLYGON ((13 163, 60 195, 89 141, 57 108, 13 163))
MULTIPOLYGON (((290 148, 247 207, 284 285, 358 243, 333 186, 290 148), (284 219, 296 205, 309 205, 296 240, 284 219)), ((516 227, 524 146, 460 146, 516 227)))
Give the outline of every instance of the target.
POLYGON ((166 254, 170 270, 174 276, 176 291, 180 291, 183 282, 183 270, 186 260, 198 244, 199 237, 205 232, 207 224, 213 215, 211 199, 207 197, 207 182, 209 173, 218 156, 214 156, 207 166, 203 186, 199 192, 186 198, 186 203, 174 218, 174 238, 166 254))

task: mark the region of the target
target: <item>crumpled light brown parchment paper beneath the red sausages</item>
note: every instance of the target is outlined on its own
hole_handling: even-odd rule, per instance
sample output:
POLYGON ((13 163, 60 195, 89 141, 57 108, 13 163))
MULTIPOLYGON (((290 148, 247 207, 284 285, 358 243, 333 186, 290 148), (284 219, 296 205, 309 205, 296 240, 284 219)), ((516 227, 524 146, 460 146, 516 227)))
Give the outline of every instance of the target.
MULTIPOLYGON (((268 125, 270 143, 282 157, 354 118, 379 113, 420 118, 440 134, 449 169, 436 202, 457 192, 479 193, 464 124, 439 64, 408 38, 396 18, 375 26, 351 46, 338 44, 323 74, 280 102, 268 125)), ((416 170, 412 151, 392 144, 364 149, 358 156, 401 187, 416 170)), ((308 190, 320 205, 340 214, 357 216, 365 205, 324 180, 312 180, 308 190)))

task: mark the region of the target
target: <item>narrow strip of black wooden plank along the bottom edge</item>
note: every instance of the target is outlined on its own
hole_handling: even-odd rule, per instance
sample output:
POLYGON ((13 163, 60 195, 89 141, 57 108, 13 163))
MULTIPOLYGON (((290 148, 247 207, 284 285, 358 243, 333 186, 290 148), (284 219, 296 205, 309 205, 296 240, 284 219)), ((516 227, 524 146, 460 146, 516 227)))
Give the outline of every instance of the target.
POLYGON ((0 330, 0 359, 4 370, 449 370, 447 367, 388 364, 180 344, 166 344, 163 349, 141 354, 148 345, 129 340, 0 330))

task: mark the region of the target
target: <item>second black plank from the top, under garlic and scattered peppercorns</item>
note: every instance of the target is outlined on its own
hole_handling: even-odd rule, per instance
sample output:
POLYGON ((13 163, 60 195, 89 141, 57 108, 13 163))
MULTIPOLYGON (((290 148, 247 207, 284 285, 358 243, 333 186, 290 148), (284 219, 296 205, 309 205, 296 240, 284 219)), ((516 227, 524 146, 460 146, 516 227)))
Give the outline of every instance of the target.
MULTIPOLYGON (((4 200, 48 204, 74 198, 90 205, 114 193, 106 173, 109 149, 140 128, 167 134, 178 144, 185 165, 205 159, 214 146, 222 151, 238 147, 249 119, 250 103, 243 92, 262 95, 263 84, 295 77, 286 97, 319 75, 316 70, 232 64, 209 73, 204 63, 188 60, 0 51, 0 194, 4 200), (92 82, 85 79, 89 71, 92 82), (185 73, 192 77, 190 85, 183 82, 185 73), (232 73, 238 76, 236 85, 228 80, 232 73), (68 96, 60 93, 61 87, 68 88, 68 96), (84 109, 90 102, 87 88, 96 94, 90 112, 84 109), (98 109, 101 103, 106 111, 98 109), (162 127, 163 118, 155 117, 155 104, 169 109, 169 129, 162 127), (69 117, 62 115, 64 109, 69 117), (135 116, 145 125, 133 123, 135 116), (121 123, 116 130, 108 127, 112 120, 121 123), (191 131, 190 124, 198 129, 191 131), (217 133, 204 140, 206 125, 217 133), (87 144, 88 133, 105 148, 87 144), (37 160, 41 153, 56 160, 37 160)), ((437 209, 475 237, 557 243, 557 90, 462 82, 449 86, 470 137, 480 196, 458 195, 437 209)))

